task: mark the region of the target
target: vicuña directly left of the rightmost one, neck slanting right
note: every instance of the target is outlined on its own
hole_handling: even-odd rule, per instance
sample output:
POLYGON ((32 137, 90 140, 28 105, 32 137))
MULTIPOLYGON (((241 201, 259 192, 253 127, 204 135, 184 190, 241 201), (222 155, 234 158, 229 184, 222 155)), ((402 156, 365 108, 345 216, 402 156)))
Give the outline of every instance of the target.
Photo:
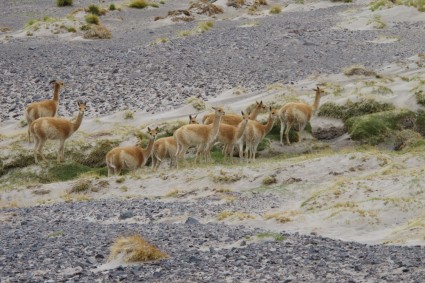
MULTIPOLYGON (((255 154, 257 153, 258 144, 264 139, 264 137, 270 132, 273 127, 274 120, 277 116, 278 111, 270 107, 269 118, 265 125, 258 121, 249 120, 247 129, 243 136, 243 141, 246 144, 245 157, 248 160, 255 160, 255 154)), ((243 156, 243 143, 239 144, 239 156, 243 156)))

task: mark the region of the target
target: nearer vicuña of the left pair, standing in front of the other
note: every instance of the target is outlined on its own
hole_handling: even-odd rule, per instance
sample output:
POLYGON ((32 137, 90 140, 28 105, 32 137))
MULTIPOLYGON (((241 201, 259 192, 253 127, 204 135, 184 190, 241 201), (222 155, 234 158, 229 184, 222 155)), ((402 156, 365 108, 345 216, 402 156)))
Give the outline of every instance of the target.
POLYGON ((41 152, 46 140, 59 140, 58 162, 64 161, 65 140, 78 130, 86 111, 85 102, 79 101, 77 105, 79 113, 77 119, 73 122, 64 118, 42 117, 31 123, 30 131, 35 140, 34 158, 36 163, 38 163, 37 153, 46 161, 41 152))

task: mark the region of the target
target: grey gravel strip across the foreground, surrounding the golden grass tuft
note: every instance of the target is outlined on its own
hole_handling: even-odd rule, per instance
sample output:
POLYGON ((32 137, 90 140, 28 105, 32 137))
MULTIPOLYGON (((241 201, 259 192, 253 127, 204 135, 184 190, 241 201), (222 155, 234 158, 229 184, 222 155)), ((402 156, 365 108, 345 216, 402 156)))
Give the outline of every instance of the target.
POLYGON ((9 209, 2 282, 421 282, 422 246, 370 246, 320 236, 199 223, 207 203, 99 201, 9 209), (184 224, 164 214, 188 215, 184 224), (192 217, 193 216, 193 217, 192 217), (139 224, 127 222, 138 217, 139 224), (105 224, 108 219, 113 223, 105 224), (170 259, 99 268, 114 237, 140 233, 170 259), (279 238, 277 238, 279 236, 279 238), (282 237, 283 236, 283 237, 282 237))

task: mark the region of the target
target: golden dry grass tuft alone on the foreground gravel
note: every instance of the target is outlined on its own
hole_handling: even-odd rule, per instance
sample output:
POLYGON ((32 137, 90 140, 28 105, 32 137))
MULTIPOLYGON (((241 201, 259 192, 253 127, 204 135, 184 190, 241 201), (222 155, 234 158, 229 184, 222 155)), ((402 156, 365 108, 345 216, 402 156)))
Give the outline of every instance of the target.
POLYGON ((123 255, 125 262, 144 262, 166 259, 169 256, 139 235, 119 237, 111 247, 110 260, 123 255))

